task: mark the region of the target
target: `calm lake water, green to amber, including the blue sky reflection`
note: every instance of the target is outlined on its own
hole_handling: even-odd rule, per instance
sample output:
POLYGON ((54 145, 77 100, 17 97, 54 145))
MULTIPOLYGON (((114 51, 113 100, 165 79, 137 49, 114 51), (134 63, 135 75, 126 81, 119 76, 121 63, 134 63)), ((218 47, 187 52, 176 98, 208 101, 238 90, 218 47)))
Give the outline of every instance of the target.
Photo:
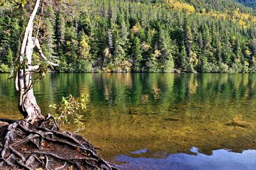
MULTIPOLYGON (((20 118, 6 78, 0 116, 20 118)), ((81 134, 124 169, 256 167, 256 74, 48 74, 34 89, 45 115, 90 94, 81 134)))

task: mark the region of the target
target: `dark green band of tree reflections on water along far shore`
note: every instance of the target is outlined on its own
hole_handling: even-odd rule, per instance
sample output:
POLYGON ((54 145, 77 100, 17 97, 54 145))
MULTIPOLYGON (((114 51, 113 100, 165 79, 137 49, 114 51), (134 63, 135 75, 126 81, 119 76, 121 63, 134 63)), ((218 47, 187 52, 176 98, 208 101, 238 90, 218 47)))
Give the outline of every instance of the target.
MULTIPOLYGON (((1 101, 15 103, 13 82, 8 83, 7 77, 0 74, 1 101)), ((255 74, 49 74, 36 83, 35 91, 40 105, 88 92, 92 103, 127 107, 147 103, 154 105, 155 109, 148 106, 150 111, 175 103, 244 103, 255 96, 255 84, 255 74)))

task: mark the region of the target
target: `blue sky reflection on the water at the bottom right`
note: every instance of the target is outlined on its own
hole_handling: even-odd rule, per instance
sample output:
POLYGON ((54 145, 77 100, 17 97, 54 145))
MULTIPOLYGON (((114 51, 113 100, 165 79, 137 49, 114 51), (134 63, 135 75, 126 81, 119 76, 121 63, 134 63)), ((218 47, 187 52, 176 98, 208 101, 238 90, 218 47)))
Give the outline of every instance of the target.
MULTIPOLYGON (((197 148, 191 148, 191 152, 194 152, 195 155, 186 153, 171 155, 159 153, 159 155, 162 155, 162 158, 143 157, 145 151, 146 150, 143 149, 132 152, 138 153, 139 155, 120 155, 116 157, 116 161, 121 162, 121 166, 124 169, 254 170, 256 168, 255 150, 245 150, 242 153, 234 153, 221 149, 212 151, 212 155, 205 155, 198 152, 197 148)), ((154 154, 156 155, 157 153, 154 154)))

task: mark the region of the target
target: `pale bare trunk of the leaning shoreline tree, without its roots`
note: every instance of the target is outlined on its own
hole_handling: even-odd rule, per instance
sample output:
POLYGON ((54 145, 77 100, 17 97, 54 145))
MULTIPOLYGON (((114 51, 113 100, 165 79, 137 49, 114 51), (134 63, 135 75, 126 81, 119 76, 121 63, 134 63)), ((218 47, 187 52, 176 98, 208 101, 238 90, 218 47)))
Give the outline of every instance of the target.
POLYGON ((19 110, 24 116, 25 120, 28 120, 32 124, 44 118, 41 115, 41 110, 36 103, 35 96, 33 94, 33 82, 32 82, 32 72, 38 69, 39 66, 31 66, 32 63, 32 53, 35 47, 36 39, 32 37, 33 35, 33 21, 36 16, 36 11, 40 6, 40 0, 36 0, 33 12, 31 13, 24 33, 24 38, 20 48, 19 56, 19 70, 16 76, 16 89, 19 92, 19 110))

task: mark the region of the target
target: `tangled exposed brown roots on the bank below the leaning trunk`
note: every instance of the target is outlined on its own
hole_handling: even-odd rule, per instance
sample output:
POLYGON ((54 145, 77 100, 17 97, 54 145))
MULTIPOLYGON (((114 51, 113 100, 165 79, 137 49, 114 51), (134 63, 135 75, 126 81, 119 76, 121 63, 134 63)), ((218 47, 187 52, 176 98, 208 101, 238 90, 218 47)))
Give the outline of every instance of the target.
POLYGON ((8 125, 0 146, 0 169, 116 169, 82 136, 61 132, 51 115, 37 125, 8 125))

